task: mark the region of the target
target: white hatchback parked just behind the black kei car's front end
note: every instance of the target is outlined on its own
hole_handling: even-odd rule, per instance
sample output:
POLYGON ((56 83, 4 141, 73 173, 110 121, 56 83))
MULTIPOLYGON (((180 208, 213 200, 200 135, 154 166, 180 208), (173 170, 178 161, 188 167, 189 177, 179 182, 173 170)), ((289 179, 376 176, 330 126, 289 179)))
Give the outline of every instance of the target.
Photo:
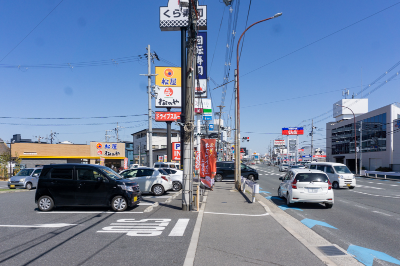
POLYGON ((139 184, 140 192, 151 192, 154 196, 160 196, 165 191, 172 189, 171 177, 162 169, 139 167, 124 170, 120 175, 139 184))

